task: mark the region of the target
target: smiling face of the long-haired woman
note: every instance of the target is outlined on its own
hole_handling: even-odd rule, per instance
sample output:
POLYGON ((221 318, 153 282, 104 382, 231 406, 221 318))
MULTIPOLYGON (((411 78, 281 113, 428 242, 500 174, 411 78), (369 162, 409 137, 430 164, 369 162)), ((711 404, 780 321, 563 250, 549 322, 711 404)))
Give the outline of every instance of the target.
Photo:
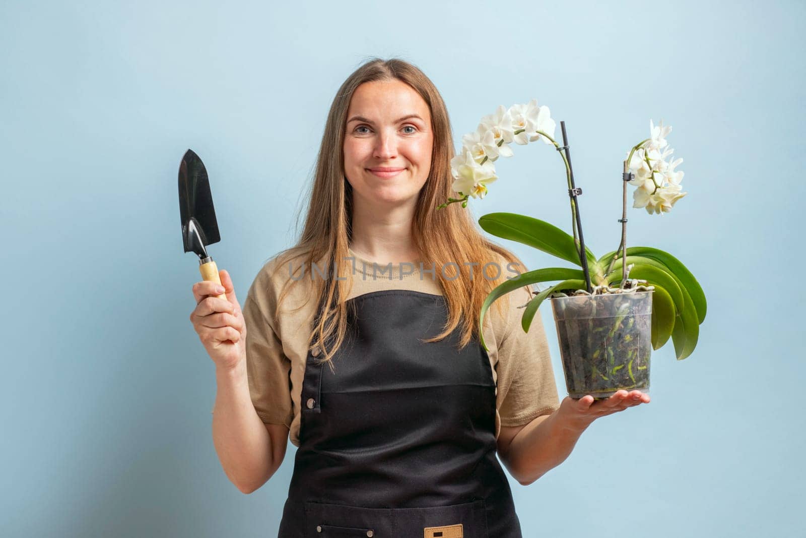
POLYGON ((431 167, 428 104, 398 80, 364 82, 347 110, 344 173, 353 196, 380 205, 417 199, 431 167))

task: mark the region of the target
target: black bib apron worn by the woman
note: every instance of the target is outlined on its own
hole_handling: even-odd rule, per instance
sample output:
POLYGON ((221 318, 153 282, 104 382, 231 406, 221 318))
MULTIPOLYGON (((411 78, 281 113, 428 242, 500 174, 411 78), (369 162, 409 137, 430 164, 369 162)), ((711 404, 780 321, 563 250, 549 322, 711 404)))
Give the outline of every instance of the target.
POLYGON ((496 459, 487 352, 478 340, 458 352, 459 327, 419 341, 447 321, 440 295, 380 290, 350 301, 334 372, 307 357, 280 538, 521 538, 496 459))

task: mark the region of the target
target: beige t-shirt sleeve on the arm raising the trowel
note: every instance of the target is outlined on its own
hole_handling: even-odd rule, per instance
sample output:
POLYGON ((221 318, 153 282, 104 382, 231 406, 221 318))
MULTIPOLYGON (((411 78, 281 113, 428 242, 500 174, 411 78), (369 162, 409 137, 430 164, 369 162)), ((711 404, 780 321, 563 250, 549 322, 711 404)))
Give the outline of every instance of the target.
POLYGON ((270 319, 273 319, 273 294, 260 277, 249 289, 243 303, 243 319, 247 327, 247 377, 249 395, 255 411, 264 423, 291 427, 291 361, 270 319))

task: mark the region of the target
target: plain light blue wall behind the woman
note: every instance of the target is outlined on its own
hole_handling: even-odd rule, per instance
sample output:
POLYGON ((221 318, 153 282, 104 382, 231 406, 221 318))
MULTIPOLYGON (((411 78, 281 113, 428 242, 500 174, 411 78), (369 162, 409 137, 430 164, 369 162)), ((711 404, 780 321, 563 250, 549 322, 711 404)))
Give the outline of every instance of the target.
MULTIPOLYGON (((512 481, 525 536, 799 532, 806 6, 608 4, 2 2, 0 534, 275 536, 293 445, 250 495, 218 462, 177 168, 187 148, 202 156, 210 252, 243 300, 293 243, 334 92, 370 56, 423 69, 457 142, 499 104, 550 106, 599 256, 617 247, 621 161, 650 118, 684 160, 688 196, 668 215, 630 209, 628 241, 698 277, 700 343, 684 361, 671 342, 654 352, 650 404, 597 420, 533 485, 512 481)), ((513 148, 470 211, 570 231, 559 156, 513 148)))

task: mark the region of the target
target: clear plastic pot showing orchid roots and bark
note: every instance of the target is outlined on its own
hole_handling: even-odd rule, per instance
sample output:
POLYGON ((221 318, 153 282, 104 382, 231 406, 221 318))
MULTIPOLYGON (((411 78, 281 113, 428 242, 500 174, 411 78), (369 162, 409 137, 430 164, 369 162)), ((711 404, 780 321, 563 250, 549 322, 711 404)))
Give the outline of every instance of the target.
POLYGON ((652 292, 552 298, 571 398, 650 388, 652 292))

